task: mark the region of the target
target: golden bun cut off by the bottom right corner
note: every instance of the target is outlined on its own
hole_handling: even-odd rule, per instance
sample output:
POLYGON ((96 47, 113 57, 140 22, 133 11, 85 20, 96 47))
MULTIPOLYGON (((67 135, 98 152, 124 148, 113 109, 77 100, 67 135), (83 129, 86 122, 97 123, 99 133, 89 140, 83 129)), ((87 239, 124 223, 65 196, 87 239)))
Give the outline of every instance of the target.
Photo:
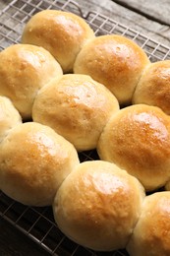
POLYGON ((127 246, 130 256, 170 255, 170 192, 147 196, 127 246))

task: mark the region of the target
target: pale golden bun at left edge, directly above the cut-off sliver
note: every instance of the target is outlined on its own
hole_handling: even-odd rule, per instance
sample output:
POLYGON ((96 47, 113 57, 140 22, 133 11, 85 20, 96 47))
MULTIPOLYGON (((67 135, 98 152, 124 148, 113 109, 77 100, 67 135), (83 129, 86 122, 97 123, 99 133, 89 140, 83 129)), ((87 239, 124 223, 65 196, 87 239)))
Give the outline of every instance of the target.
POLYGON ((31 116, 38 90, 59 76, 59 63, 42 47, 14 44, 0 52, 0 95, 8 96, 24 119, 31 116))

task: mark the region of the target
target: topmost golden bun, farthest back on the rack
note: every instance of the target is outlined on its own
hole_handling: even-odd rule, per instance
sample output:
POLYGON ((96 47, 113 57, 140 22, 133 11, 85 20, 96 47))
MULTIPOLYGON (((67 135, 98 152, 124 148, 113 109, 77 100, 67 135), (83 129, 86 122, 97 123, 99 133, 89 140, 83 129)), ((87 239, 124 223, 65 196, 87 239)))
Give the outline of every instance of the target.
POLYGON ((93 37, 94 32, 83 18, 69 12, 44 10, 30 18, 22 41, 47 49, 66 73, 73 70, 77 54, 93 37))

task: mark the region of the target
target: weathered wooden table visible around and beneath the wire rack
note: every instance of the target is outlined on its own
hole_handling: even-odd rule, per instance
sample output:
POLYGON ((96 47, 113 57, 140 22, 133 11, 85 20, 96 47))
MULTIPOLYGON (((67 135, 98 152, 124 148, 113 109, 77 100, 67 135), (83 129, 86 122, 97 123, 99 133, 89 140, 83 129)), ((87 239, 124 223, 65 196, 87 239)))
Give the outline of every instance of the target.
MULTIPOLYGON (((170 3, 165 0, 77 0, 82 10, 104 14, 127 27, 170 45, 170 3)), ((0 9, 6 5, 0 1, 0 9)), ((0 256, 48 255, 21 231, 0 220, 0 256)))

